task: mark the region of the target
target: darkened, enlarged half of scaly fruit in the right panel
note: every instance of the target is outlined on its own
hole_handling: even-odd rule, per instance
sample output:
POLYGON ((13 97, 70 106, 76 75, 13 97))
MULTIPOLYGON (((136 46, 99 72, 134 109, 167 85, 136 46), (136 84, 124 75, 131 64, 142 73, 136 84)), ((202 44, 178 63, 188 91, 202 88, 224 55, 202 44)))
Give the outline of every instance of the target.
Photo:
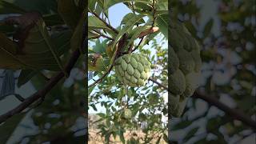
POLYGON ((170 114, 180 117, 188 98, 198 88, 202 61, 198 42, 190 32, 172 18, 170 23, 170 114))

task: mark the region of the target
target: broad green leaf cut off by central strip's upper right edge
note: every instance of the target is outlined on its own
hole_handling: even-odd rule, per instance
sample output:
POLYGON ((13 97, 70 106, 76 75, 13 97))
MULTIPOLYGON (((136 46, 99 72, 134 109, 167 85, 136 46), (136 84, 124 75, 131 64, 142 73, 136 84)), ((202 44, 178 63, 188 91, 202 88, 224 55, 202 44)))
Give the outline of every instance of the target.
POLYGON ((169 14, 159 15, 156 18, 156 23, 162 34, 168 39, 169 14))

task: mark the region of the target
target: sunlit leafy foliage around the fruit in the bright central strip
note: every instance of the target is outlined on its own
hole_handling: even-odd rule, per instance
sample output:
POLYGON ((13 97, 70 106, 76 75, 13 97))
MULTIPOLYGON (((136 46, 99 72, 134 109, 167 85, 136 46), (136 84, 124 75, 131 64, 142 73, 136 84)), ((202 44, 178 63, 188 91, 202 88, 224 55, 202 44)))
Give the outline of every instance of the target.
POLYGON ((155 138, 157 143, 161 138, 167 141, 166 123, 162 123, 162 117, 167 116, 167 107, 161 96, 166 90, 152 82, 139 88, 126 88, 111 71, 118 56, 129 52, 142 53, 153 64, 152 78, 167 84, 167 4, 167 1, 157 0, 89 1, 88 65, 89 82, 93 83, 89 83, 89 104, 95 111, 98 105, 106 109, 106 113, 99 113, 100 118, 93 122, 105 142, 116 136, 123 143, 149 143, 155 142, 155 138), (127 6, 130 13, 122 18, 120 26, 114 28, 110 25, 108 10, 119 2, 127 6), (148 18, 147 22, 144 17, 148 18), (160 30, 152 33, 151 27, 155 26, 160 30), (150 48, 145 48, 148 44, 150 48), (152 53, 152 50, 156 52, 152 53), (102 79, 98 82, 99 78, 102 79), (125 117, 126 109, 131 110, 131 118, 125 117), (124 138, 125 132, 133 130, 142 130, 145 137, 124 138))

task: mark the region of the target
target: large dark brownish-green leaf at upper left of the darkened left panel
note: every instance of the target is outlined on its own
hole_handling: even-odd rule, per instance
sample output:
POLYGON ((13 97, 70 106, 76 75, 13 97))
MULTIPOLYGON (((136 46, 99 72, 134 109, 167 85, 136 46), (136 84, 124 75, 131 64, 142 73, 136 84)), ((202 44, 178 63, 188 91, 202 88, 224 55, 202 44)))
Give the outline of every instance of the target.
MULTIPOLYGON (((30 14, 28 14, 30 15, 30 14)), ((14 22, 23 22, 26 16, 13 17, 14 22)), ((33 21, 33 20, 32 20, 33 21)), ((34 21, 33 21, 34 22, 34 21)), ((54 42, 46 29, 46 24, 39 18, 31 29, 21 30, 18 45, 4 34, 0 34, 0 67, 3 69, 61 70, 62 62, 54 42)))

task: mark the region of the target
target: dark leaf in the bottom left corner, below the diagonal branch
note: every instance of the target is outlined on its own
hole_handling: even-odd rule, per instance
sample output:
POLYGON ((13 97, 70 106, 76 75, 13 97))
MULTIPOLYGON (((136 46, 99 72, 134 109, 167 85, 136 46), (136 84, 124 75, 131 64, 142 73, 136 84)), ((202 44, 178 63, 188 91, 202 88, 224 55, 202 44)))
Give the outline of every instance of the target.
POLYGON ((26 114, 16 114, 0 126, 1 143, 6 143, 26 114))

